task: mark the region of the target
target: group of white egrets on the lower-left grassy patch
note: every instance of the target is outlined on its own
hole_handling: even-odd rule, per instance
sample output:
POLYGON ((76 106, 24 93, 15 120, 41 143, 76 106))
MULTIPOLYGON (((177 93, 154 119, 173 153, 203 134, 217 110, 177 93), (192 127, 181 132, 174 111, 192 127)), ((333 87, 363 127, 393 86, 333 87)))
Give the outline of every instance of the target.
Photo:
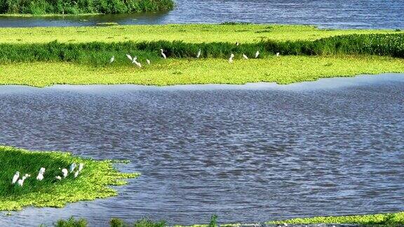
MULTIPOLYGON (((69 167, 69 171, 66 168, 63 168, 61 170, 62 172, 62 176, 56 176, 55 179, 57 180, 62 180, 63 178, 66 178, 69 173, 74 175, 74 178, 79 177, 79 173, 83 170, 84 164, 80 163, 79 166, 76 165, 76 163, 72 163, 72 165, 70 165, 69 167)), ((38 181, 42 181, 43 180, 43 175, 45 174, 45 168, 41 167, 41 169, 39 170, 38 175, 36 176, 36 180, 38 181)), ((60 168, 59 168, 60 170, 60 168)), ((11 184, 18 184, 19 186, 23 186, 24 185, 24 181, 25 179, 27 179, 28 177, 31 177, 31 174, 24 174, 22 175, 22 177, 20 178, 20 172, 15 172, 13 179, 11 181, 11 184)))

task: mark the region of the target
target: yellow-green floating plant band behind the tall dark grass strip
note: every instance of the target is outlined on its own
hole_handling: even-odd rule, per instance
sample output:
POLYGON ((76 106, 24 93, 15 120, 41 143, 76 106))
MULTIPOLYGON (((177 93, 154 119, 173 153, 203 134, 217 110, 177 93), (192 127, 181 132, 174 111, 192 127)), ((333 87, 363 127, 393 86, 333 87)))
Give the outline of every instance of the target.
POLYGON ((184 41, 253 43, 315 40, 344 34, 398 33, 390 30, 318 29, 307 25, 127 25, 112 27, 0 28, 0 43, 184 41))

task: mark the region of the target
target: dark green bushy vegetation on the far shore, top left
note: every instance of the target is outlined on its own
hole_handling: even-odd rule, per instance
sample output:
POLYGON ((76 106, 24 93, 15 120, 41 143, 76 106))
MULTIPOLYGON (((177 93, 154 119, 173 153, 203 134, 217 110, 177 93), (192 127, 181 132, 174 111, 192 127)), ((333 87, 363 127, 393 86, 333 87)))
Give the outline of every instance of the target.
POLYGON ((81 15, 170 11, 173 0, 0 0, 4 15, 81 15))

